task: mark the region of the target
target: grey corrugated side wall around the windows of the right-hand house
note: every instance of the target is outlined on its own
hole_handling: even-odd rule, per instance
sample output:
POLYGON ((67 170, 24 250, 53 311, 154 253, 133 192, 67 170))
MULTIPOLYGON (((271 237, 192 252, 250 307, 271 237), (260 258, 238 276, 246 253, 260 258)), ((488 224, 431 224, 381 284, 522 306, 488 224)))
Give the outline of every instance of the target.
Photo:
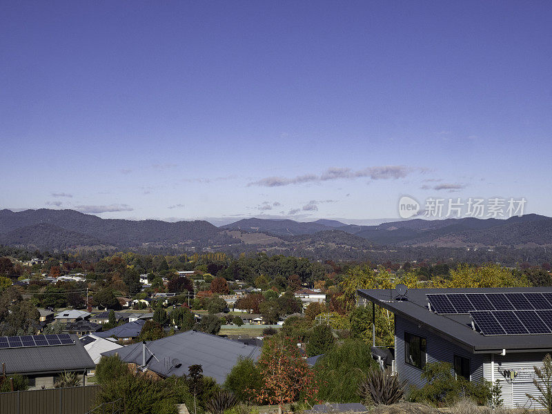
POLYGON ((470 359, 470 378, 473 382, 481 382, 483 379, 483 355, 475 355, 466 351, 446 339, 434 335, 419 328, 417 324, 395 315, 395 368, 401 380, 406 380, 409 385, 421 388, 426 384, 422 379, 422 370, 404 362, 404 333, 411 333, 424 337, 426 344, 426 363, 449 362, 454 364, 454 355, 470 359))

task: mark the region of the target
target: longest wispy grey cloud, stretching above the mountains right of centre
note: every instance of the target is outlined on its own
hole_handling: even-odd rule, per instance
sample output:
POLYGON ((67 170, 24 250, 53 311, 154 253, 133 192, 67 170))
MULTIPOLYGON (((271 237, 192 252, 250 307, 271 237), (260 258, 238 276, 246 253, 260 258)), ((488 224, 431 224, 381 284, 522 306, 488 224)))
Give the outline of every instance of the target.
MULTIPOLYGON (((416 168, 407 166, 379 166, 379 167, 367 167, 362 170, 353 170, 351 168, 328 168, 320 175, 305 174, 297 175, 296 177, 266 177, 253 181, 248 186, 262 186, 262 187, 281 187, 289 186, 291 184, 304 184, 321 181, 331 181, 335 179, 356 179, 356 178, 370 178, 377 179, 398 179, 406 177, 410 172, 413 172, 416 168)), ((419 169, 418 169, 419 170, 419 169)))

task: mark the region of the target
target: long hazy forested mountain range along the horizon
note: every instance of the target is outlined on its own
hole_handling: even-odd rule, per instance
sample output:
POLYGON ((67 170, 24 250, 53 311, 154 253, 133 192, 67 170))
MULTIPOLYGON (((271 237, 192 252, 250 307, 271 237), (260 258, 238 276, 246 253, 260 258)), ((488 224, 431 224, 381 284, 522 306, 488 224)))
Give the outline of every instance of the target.
POLYGON ((552 245, 552 218, 412 219, 379 226, 337 220, 242 219, 216 227, 207 221, 101 219, 74 210, 0 210, 0 244, 76 248, 181 248, 182 250, 287 252, 316 249, 368 251, 384 246, 531 247, 552 245))

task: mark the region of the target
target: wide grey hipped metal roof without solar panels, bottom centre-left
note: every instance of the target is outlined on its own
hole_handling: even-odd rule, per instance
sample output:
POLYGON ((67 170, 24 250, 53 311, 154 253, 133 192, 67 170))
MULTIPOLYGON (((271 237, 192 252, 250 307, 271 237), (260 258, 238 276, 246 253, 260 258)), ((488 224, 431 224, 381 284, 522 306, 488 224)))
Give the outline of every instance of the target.
MULTIPOLYGON (((248 357, 257 360, 261 355, 261 348, 253 345, 233 341, 195 331, 177 333, 157 341, 146 344, 148 369, 166 377, 170 375, 184 375, 188 373, 188 366, 200 364, 204 375, 213 377, 219 384, 226 380, 239 357, 248 357), (155 357, 152 357, 152 354, 155 357), (159 359, 159 362, 157 359, 159 359), (179 359, 181 366, 172 367, 172 360, 179 359)), ((118 353, 125 362, 142 364, 142 344, 132 344, 108 351, 102 355, 118 353)))

